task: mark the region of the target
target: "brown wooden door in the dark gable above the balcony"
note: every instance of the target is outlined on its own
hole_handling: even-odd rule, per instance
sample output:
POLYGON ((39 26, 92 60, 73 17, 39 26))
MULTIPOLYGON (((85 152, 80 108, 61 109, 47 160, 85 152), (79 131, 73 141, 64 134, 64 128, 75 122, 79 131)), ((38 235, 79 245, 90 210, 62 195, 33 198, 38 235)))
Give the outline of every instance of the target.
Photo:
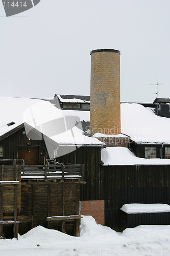
POLYGON ((38 146, 19 146, 18 158, 22 158, 26 165, 38 164, 38 146))

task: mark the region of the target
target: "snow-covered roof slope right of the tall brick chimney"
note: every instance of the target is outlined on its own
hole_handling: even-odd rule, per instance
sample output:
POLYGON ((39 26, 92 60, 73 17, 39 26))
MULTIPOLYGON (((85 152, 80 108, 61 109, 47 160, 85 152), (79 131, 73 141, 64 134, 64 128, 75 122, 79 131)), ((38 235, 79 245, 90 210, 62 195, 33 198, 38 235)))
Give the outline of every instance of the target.
POLYGON ((136 103, 122 103, 120 108, 122 133, 136 142, 170 143, 170 118, 136 103))

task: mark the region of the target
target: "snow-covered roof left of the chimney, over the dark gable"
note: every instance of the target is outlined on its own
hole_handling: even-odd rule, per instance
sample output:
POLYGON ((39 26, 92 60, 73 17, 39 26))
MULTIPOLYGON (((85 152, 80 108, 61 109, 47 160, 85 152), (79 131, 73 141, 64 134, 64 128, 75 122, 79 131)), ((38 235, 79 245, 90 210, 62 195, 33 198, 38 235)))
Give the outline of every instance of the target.
POLYGON ((27 123, 61 145, 105 145, 98 139, 85 136, 83 131, 75 126, 76 121, 89 118, 88 111, 64 111, 48 101, 39 99, 0 97, 0 101, 3 110, 0 139, 22 123, 27 123), (14 124, 8 126, 10 122, 14 124))

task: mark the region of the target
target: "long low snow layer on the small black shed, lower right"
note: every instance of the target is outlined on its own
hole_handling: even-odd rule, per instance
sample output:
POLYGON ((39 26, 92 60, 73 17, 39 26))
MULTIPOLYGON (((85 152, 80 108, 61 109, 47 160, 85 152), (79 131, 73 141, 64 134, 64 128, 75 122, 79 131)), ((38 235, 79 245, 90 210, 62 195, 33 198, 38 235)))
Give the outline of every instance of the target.
POLYGON ((168 204, 124 204, 120 210, 127 214, 142 214, 154 212, 168 212, 170 206, 168 204))

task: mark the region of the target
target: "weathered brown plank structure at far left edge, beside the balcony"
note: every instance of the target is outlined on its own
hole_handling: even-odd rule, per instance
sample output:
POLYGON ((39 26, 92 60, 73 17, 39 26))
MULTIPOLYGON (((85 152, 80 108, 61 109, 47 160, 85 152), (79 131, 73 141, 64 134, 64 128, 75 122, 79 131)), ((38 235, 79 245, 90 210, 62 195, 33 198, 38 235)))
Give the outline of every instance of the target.
POLYGON ((3 224, 14 224, 14 237, 17 238, 20 197, 21 197, 21 168, 18 165, 0 166, 0 236, 8 236, 8 227, 3 224))

